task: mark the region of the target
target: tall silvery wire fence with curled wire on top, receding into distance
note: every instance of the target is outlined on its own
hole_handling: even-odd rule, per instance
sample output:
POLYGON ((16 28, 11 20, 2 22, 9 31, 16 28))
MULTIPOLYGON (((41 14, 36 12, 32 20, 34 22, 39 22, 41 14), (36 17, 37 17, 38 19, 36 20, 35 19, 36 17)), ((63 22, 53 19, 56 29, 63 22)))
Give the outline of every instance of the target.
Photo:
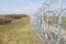
POLYGON ((30 16, 31 25, 43 44, 66 44, 63 35, 66 30, 66 9, 53 8, 56 8, 54 0, 45 0, 41 8, 30 16))

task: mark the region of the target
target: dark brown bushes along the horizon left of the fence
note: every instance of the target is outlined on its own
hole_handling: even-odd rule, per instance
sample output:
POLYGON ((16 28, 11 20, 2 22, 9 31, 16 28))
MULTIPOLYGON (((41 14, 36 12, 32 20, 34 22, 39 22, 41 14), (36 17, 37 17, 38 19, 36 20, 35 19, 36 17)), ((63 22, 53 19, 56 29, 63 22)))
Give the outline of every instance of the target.
POLYGON ((0 15, 0 24, 8 24, 11 23, 14 19, 21 19, 26 16, 26 14, 8 14, 8 15, 0 15))

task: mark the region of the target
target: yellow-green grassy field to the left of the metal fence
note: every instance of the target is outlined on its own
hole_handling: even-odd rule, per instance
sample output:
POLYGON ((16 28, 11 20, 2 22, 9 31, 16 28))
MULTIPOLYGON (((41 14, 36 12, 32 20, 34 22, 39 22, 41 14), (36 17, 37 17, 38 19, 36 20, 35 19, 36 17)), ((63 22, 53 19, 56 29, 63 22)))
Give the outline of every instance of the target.
POLYGON ((29 16, 0 25, 0 44, 41 44, 30 25, 29 16))

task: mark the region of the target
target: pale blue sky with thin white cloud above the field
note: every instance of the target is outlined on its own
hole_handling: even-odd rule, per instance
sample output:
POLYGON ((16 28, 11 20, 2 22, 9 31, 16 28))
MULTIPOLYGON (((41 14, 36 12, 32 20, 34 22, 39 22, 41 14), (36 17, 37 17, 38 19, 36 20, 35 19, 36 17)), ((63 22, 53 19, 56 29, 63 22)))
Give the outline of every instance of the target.
MULTIPOLYGON (((44 0, 0 0, 0 13, 34 13, 44 0)), ((45 1, 47 2, 47 1, 45 1)), ((66 0, 63 1, 66 6, 66 0)), ((54 1, 58 4, 58 1, 54 1)))

